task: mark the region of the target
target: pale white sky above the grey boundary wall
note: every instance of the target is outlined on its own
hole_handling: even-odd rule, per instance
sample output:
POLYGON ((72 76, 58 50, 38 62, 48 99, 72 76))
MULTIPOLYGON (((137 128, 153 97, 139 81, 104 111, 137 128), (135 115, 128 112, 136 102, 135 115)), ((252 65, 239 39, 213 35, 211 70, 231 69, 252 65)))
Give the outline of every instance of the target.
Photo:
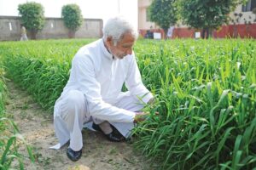
POLYGON ((37 2, 44 6, 45 17, 61 17, 65 4, 76 3, 84 18, 102 19, 103 24, 114 15, 123 15, 137 28, 137 0, 0 0, 0 16, 19 16, 20 3, 37 2))

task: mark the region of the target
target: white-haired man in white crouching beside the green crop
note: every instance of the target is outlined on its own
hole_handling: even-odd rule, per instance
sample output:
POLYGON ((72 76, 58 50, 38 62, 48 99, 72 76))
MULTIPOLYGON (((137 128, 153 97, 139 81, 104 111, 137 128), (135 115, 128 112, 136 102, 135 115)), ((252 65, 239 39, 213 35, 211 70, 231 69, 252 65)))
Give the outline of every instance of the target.
POLYGON ((55 133, 66 144, 72 161, 82 155, 84 122, 111 141, 129 137, 134 122, 143 121, 143 106, 153 95, 143 85, 132 47, 137 31, 122 17, 103 27, 103 37, 80 48, 72 62, 70 77, 55 102, 55 133), (127 92, 121 92, 125 83, 127 92))

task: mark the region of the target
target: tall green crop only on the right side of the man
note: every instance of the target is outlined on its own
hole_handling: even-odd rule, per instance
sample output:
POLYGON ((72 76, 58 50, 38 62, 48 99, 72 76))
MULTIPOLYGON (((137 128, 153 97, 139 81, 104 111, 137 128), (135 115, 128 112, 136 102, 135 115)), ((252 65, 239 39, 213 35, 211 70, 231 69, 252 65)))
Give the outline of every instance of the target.
POLYGON ((137 42, 143 82, 157 95, 134 132, 137 149, 158 169, 256 167, 255 49, 253 40, 137 42))

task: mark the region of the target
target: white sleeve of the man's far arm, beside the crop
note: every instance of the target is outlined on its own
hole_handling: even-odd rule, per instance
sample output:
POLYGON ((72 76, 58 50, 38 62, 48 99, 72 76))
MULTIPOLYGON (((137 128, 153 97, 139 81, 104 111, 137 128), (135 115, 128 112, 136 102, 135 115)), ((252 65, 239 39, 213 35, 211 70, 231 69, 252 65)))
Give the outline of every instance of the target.
POLYGON ((148 103, 148 100, 153 98, 153 95, 148 91, 142 82, 142 77, 134 55, 129 65, 129 72, 125 80, 125 86, 132 95, 142 99, 144 103, 148 103))

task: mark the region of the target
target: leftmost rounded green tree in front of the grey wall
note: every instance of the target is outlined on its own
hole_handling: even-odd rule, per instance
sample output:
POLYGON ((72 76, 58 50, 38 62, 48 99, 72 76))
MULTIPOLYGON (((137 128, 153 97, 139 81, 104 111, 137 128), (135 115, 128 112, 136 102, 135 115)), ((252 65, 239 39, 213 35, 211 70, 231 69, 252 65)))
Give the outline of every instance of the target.
POLYGON ((40 3, 23 3, 18 6, 21 15, 21 24, 36 39, 38 31, 44 27, 44 7, 40 3))

